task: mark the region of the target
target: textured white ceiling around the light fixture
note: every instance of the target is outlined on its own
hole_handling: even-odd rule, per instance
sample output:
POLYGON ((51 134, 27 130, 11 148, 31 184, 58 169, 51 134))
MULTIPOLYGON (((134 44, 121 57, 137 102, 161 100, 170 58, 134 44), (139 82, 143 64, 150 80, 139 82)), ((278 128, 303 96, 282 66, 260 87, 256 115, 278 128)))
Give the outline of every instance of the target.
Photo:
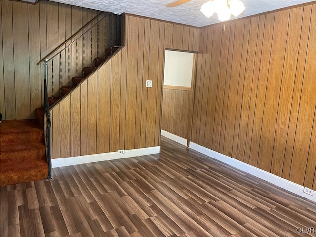
MULTIPOLYGON (((217 14, 207 18, 200 11, 201 5, 207 0, 192 0, 178 7, 166 7, 175 0, 53 0, 100 11, 114 13, 131 13, 191 26, 206 26, 220 22, 217 14)), ((243 14, 231 20, 293 6, 313 0, 242 0, 245 5, 243 14)))

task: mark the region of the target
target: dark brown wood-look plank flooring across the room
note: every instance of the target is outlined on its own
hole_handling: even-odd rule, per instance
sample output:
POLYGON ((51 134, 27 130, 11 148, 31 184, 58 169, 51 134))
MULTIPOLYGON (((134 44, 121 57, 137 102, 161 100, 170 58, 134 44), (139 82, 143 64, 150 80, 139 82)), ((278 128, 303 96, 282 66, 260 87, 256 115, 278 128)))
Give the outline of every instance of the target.
POLYGON ((1 187, 1 237, 316 236, 297 232, 310 227, 314 202, 166 138, 161 154, 1 187))

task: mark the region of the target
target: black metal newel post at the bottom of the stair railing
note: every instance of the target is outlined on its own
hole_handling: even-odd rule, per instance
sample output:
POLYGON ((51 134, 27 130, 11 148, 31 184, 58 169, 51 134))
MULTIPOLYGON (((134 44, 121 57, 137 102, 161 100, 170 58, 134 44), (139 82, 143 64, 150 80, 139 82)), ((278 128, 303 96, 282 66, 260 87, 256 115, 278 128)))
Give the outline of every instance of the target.
POLYGON ((50 112, 49 112, 49 102, 48 102, 48 90, 47 90, 47 60, 44 60, 44 110, 46 113, 47 126, 46 126, 46 157, 48 163, 48 177, 52 178, 52 167, 51 167, 51 156, 50 156, 50 112))

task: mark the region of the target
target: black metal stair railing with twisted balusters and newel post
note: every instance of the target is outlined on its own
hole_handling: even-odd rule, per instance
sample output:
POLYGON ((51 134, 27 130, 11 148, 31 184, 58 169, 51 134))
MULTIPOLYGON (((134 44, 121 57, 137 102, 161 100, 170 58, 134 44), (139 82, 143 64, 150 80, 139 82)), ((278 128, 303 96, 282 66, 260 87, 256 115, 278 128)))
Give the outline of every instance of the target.
POLYGON ((49 168, 48 179, 52 178, 50 155, 51 122, 49 112, 51 106, 64 94, 67 94, 72 87, 76 86, 79 81, 87 77, 88 73, 85 73, 85 69, 87 69, 87 72, 92 72, 95 67, 99 66, 99 59, 101 62, 105 61, 106 57, 109 56, 109 52, 112 54, 115 49, 122 46, 122 18, 120 15, 114 17, 115 15, 116 14, 106 12, 103 16, 100 15, 98 19, 96 19, 96 23, 92 23, 93 25, 87 30, 82 30, 83 33, 75 40, 72 40, 69 44, 65 44, 65 47, 60 49, 59 52, 43 61, 44 109, 46 113, 45 138, 49 168), (100 29, 102 30, 100 31, 100 29), (113 42, 115 45, 113 45, 113 42), (100 45, 102 46, 100 47, 100 45), (101 49, 103 46, 104 52, 102 52, 101 49), (94 62, 92 61, 93 59, 95 59, 94 62), (89 65, 88 68, 86 68, 87 65, 89 65))

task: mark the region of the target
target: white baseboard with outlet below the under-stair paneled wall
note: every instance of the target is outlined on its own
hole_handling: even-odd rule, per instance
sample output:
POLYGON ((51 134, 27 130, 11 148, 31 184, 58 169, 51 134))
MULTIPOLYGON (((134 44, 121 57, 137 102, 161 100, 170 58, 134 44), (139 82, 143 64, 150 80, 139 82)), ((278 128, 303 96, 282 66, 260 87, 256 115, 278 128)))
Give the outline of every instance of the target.
POLYGON ((108 153, 93 154, 93 155, 86 155, 86 156, 79 156, 79 157, 52 159, 51 164, 52 164, 52 168, 57 168, 57 167, 63 167, 63 166, 69 166, 69 165, 85 164, 85 163, 99 162, 99 161, 112 160, 112 159, 129 158, 129 157, 138 157, 138 156, 145 156, 145 155, 151 155, 151 154, 157 154, 157 153, 160 153, 160 146, 125 150, 124 154, 118 154, 118 152, 108 152, 108 153))

